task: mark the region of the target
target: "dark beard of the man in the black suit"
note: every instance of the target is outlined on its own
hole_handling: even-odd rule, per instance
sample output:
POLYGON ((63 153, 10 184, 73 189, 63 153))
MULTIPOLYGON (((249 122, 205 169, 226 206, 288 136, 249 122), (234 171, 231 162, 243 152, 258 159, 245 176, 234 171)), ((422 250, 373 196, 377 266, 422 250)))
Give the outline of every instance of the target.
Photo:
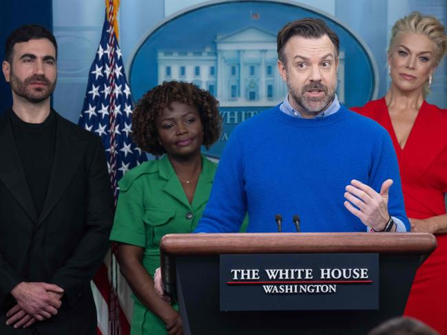
POLYGON ((53 93, 54 87, 56 87, 56 80, 51 83, 43 74, 34 74, 21 81, 13 72, 11 72, 10 86, 17 96, 21 96, 21 98, 25 98, 32 103, 39 103, 46 100, 53 93), (29 86, 30 83, 43 83, 46 86, 33 89, 29 86))

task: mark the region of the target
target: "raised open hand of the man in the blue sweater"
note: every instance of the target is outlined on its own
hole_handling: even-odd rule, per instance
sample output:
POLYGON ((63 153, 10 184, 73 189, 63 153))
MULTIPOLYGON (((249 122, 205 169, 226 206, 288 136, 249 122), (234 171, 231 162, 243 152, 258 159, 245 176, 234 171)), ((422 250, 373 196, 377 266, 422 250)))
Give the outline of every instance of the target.
POLYGON ((344 206, 373 230, 383 230, 390 218, 388 214, 388 192, 393 180, 385 180, 377 193, 370 186, 351 180, 346 186, 344 206))

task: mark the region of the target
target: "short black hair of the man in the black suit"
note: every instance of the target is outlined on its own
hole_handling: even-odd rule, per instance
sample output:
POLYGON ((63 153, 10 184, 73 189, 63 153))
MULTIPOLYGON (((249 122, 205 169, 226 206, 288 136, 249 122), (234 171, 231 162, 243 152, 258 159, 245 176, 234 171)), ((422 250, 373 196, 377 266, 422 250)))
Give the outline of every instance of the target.
POLYGON ((21 25, 19 28, 14 30, 8 39, 6 39, 5 44, 5 60, 12 61, 12 49, 16 43, 28 42, 31 39, 48 39, 54 45, 54 50, 56 50, 57 59, 57 43, 54 35, 50 30, 43 27, 43 25, 21 25))

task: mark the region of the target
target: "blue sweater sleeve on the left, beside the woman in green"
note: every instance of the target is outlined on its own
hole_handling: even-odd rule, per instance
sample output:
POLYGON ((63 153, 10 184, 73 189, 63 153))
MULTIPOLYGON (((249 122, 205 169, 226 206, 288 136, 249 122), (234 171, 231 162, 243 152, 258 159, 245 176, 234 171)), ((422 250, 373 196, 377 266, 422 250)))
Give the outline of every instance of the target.
POLYGON ((225 146, 202 219, 194 233, 236 233, 247 212, 243 147, 235 129, 225 146))

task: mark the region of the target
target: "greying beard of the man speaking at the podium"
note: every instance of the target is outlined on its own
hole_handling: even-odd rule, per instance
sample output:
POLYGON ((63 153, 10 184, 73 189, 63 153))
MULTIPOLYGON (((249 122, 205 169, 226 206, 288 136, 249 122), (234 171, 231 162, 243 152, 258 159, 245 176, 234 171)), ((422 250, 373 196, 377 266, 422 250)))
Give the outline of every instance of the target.
POLYGON ((291 100, 295 102, 295 105, 302 107, 302 109, 304 109, 304 113, 311 116, 320 114, 322 111, 324 111, 324 109, 331 105, 331 102, 333 102, 335 98, 336 85, 337 84, 335 83, 334 87, 328 88, 319 81, 315 81, 313 83, 310 83, 309 85, 304 86, 301 92, 297 92, 290 85, 289 81, 287 81, 287 88, 289 89, 289 97, 291 98, 291 100), (313 98, 304 95, 306 91, 311 91, 313 89, 323 91, 324 96, 322 96, 322 98, 313 98))

